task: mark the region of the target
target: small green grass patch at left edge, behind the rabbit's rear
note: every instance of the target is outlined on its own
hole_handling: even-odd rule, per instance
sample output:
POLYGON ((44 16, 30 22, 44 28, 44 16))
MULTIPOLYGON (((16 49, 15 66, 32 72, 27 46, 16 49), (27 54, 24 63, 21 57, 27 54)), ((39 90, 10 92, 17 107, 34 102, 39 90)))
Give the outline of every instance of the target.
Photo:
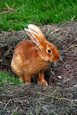
POLYGON ((11 75, 10 72, 7 71, 0 71, 0 84, 4 83, 10 83, 10 84, 19 84, 19 79, 15 78, 14 75, 11 75))

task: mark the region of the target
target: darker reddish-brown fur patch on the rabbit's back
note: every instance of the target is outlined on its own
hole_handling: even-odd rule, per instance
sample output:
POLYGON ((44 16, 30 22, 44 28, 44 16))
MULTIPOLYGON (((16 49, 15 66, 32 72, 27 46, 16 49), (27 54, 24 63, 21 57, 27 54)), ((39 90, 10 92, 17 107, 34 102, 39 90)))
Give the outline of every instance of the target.
POLYGON ((34 56, 36 49, 37 46, 31 40, 24 40, 16 45, 14 55, 20 55, 22 61, 26 61, 34 56))

